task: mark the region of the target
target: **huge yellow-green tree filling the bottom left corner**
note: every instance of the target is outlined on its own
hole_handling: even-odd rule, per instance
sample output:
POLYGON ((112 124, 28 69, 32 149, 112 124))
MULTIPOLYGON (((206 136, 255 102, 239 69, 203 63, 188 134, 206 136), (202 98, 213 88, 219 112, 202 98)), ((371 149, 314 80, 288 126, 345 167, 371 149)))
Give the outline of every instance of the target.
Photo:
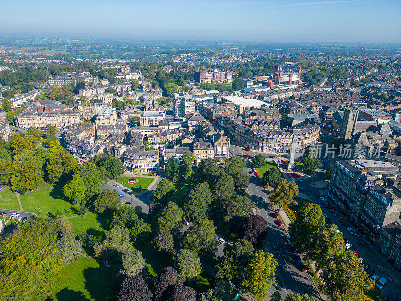
POLYGON ((44 301, 60 271, 57 225, 30 218, 0 244, 0 294, 10 301, 44 301))

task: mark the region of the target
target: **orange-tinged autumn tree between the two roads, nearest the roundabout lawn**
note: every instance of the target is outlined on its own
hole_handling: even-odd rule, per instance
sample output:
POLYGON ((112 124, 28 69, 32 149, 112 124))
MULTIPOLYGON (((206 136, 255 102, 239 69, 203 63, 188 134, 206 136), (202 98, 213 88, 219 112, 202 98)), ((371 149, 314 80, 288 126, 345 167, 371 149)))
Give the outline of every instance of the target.
POLYGON ((298 195, 298 193, 298 185, 294 181, 283 179, 269 194, 270 206, 279 212, 281 209, 286 209, 290 204, 296 205, 297 202, 293 196, 298 195))

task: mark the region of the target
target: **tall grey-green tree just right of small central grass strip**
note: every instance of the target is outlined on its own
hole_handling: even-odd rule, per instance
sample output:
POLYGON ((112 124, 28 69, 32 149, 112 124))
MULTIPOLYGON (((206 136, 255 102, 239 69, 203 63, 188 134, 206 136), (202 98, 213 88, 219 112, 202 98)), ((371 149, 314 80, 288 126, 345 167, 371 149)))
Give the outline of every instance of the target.
POLYGON ((188 201, 184 204, 185 214, 194 221, 206 218, 212 201, 209 184, 207 182, 200 183, 189 192, 188 201))

